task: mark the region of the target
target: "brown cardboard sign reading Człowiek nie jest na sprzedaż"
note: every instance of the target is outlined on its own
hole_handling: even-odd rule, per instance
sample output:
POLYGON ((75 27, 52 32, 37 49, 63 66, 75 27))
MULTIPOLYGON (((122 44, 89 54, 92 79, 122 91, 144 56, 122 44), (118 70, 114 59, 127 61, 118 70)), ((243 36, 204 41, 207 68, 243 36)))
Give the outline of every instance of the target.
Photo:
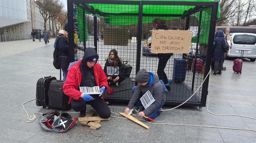
POLYGON ((192 31, 153 30, 151 53, 189 53, 192 31))

